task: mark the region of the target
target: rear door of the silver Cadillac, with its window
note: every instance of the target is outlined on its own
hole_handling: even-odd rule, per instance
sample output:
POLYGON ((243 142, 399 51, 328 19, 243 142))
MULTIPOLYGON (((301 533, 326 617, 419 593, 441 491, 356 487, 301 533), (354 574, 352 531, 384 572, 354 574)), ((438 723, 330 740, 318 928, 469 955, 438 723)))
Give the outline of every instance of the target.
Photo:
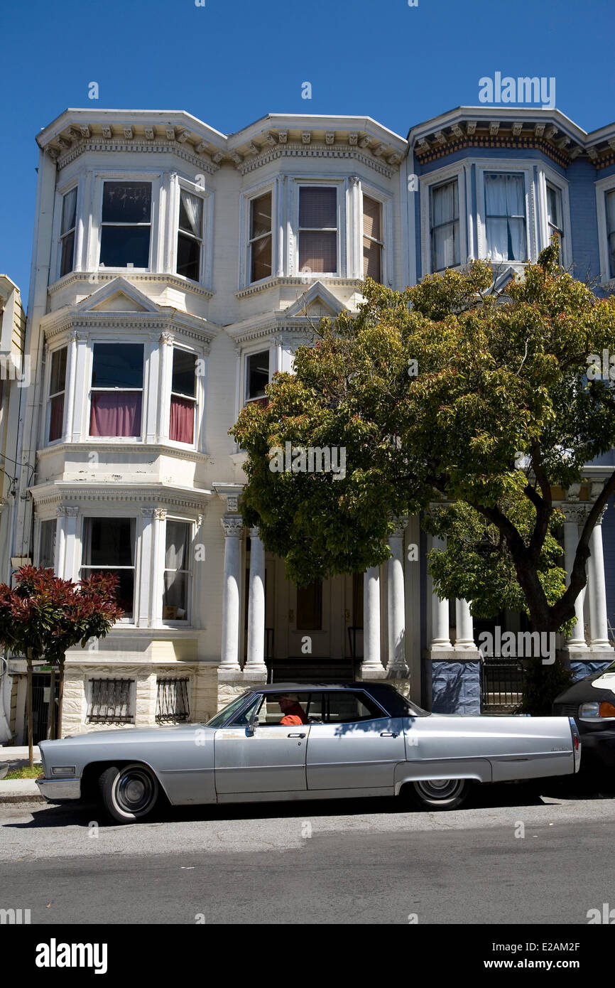
POLYGON ((406 759, 401 717, 388 716, 361 691, 323 694, 323 722, 307 745, 308 789, 390 789, 406 759))

